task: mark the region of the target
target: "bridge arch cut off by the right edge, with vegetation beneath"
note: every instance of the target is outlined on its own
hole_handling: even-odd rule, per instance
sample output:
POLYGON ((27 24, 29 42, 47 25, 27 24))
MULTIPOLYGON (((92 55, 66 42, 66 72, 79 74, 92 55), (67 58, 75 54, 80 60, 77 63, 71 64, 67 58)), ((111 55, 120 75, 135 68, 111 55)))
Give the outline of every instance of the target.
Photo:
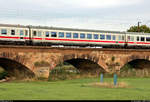
POLYGON ((120 76, 123 77, 149 77, 150 60, 133 59, 120 69, 120 76))

